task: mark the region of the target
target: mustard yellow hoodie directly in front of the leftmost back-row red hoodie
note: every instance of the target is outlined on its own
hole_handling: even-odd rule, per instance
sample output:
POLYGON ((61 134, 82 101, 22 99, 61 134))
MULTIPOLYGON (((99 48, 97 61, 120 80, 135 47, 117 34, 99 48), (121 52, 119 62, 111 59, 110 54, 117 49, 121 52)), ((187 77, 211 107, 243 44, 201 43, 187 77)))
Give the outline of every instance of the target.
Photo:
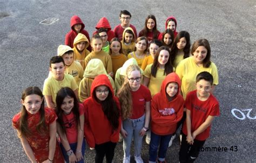
POLYGON ((74 58, 76 61, 78 61, 82 65, 83 69, 85 69, 84 59, 90 53, 90 51, 87 50, 87 47, 89 46, 89 44, 90 44, 89 40, 82 33, 78 33, 78 35, 76 36, 74 43, 73 43, 74 58), (77 49, 77 44, 80 42, 85 42, 85 47, 84 47, 84 50, 82 51, 82 53, 80 53, 77 49))

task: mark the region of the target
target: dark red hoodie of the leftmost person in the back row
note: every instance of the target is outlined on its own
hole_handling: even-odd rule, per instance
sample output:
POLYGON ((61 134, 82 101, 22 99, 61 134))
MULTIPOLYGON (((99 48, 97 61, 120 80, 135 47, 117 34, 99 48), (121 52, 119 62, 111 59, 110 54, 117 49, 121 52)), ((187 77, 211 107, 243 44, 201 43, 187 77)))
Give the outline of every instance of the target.
MULTIPOLYGON (((75 24, 82 24, 82 28, 81 28, 79 33, 83 33, 87 37, 87 39, 89 40, 89 43, 91 42, 90 37, 89 37, 89 33, 86 30, 84 30, 84 28, 85 28, 84 23, 82 22, 82 20, 77 15, 74 15, 70 19, 71 30, 66 34, 66 37, 65 37, 65 45, 68 45, 71 48, 73 48, 74 39, 76 38, 76 36, 78 34, 75 31, 74 27, 73 27, 75 24)), ((90 44, 87 47, 87 50, 91 51, 91 45, 90 44)))

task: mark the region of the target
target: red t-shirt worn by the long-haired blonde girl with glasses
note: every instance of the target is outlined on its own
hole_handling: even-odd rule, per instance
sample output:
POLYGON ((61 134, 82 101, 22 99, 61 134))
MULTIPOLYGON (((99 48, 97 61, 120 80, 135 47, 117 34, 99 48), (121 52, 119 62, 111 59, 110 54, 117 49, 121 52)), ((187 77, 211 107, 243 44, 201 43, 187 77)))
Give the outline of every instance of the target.
POLYGON ((140 85, 137 91, 132 94, 132 116, 130 119, 138 119, 145 114, 145 104, 151 100, 150 90, 146 86, 140 85))

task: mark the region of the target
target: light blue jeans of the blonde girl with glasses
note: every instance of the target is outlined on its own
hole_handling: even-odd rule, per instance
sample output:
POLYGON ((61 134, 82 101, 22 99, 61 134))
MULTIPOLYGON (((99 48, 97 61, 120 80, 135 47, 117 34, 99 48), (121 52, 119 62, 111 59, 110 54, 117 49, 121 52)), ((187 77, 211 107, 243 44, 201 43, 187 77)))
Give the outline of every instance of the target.
POLYGON ((144 123, 145 114, 138 119, 126 119, 123 121, 123 128, 127 132, 127 137, 124 138, 123 142, 124 157, 130 156, 132 137, 134 141, 134 156, 140 156, 143 137, 139 135, 139 132, 144 127, 144 123))

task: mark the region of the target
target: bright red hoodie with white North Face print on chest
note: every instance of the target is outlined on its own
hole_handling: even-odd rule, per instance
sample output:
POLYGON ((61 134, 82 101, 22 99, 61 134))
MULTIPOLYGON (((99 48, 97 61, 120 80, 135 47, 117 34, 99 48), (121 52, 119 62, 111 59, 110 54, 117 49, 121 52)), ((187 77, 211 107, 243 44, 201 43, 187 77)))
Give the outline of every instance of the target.
POLYGON ((160 92, 153 97, 151 103, 151 131, 153 133, 168 135, 176 131, 177 123, 183 116, 184 107, 184 99, 179 94, 180 84, 179 76, 172 72, 165 77, 160 92), (165 90, 170 82, 176 82, 179 89, 174 98, 168 101, 165 90))

